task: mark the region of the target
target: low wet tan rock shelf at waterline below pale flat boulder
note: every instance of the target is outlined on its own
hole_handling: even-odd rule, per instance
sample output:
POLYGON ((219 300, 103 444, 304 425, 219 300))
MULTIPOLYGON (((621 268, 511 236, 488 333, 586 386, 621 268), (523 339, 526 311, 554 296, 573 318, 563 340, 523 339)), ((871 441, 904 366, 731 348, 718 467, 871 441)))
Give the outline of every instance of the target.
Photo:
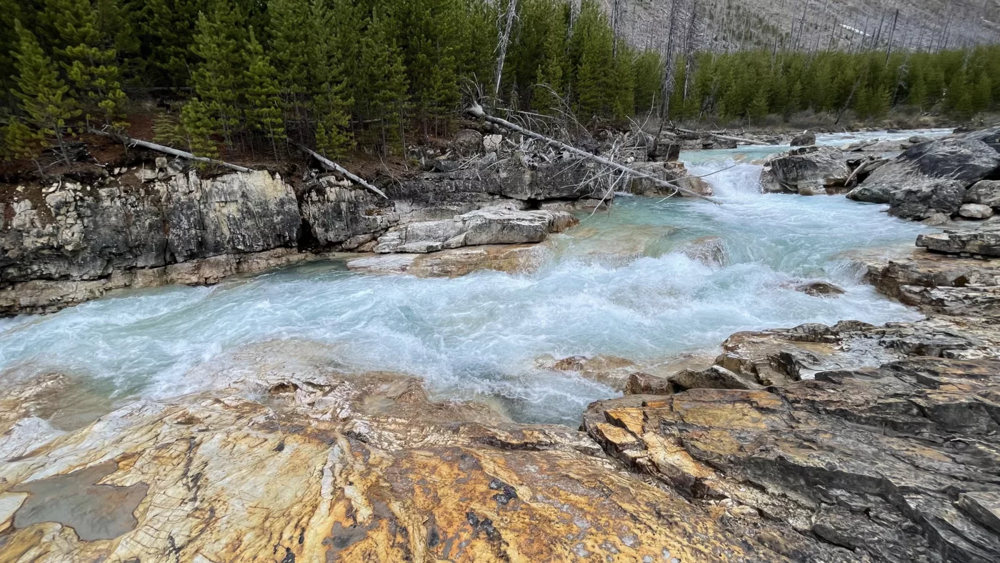
POLYGON ((347 261, 347 269, 367 274, 417 277, 464 276, 481 270, 528 273, 537 269, 546 249, 534 244, 481 245, 426 254, 378 254, 347 261))

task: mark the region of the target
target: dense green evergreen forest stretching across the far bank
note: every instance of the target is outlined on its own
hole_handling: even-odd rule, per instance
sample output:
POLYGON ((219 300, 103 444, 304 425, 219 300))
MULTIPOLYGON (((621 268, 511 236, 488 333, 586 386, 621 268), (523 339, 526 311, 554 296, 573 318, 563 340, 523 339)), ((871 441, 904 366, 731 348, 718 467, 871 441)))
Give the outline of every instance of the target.
POLYGON ((664 110, 748 123, 801 111, 879 120, 893 108, 965 120, 1000 106, 997 46, 691 46, 667 72, 667 57, 616 37, 594 0, 520 0, 501 49, 508 1, 0 0, 0 147, 8 160, 51 149, 69 161, 75 136, 152 114, 157 142, 204 156, 280 159, 288 141, 331 157, 400 154, 450 135, 473 99, 585 126, 664 110))

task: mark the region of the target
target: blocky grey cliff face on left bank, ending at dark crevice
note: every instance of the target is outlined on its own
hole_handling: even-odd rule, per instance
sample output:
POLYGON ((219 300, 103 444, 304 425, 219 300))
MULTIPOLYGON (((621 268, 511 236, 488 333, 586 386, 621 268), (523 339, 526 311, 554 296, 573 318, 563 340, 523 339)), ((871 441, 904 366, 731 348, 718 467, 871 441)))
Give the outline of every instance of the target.
POLYGON ((295 193, 266 171, 142 169, 11 200, 0 223, 0 314, 49 312, 119 287, 214 283, 298 259, 295 193))

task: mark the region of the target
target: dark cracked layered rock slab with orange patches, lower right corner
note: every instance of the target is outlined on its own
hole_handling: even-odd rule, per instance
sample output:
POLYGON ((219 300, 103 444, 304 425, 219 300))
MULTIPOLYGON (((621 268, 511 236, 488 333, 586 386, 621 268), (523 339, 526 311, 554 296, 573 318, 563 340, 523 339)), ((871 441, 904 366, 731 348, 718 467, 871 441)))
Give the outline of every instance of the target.
POLYGON ((591 405, 584 426, 637 471, 789 522, 859 560, 986 563, 1000 536, 982 511, 953 503, 1000 490, 988 469, 997 423, 979 406, 992 403, 998 368, 913 359, 770 392, 627 396, 591 405))

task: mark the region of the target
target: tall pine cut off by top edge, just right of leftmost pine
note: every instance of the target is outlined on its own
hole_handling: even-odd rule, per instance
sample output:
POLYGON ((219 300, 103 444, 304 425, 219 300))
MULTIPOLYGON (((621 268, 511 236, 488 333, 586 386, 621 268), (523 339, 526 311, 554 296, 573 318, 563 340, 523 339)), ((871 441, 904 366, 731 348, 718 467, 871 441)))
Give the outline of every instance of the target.
POLYGON ((56 31, 56 53, 87 120, 100 119, 110 125, 122 117, 125 92, 117 55, 113 48, 103 47, 105 41, 90 1, 47 0, 44 16, 56 31))

